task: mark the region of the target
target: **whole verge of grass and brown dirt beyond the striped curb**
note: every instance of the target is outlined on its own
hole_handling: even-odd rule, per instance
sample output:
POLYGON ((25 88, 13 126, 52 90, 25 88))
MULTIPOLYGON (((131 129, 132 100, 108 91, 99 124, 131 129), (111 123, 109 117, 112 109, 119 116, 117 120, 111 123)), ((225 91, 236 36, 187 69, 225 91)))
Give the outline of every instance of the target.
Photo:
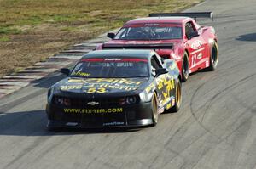
POLYGON ((147 16, 151 12, 181 11, 201 1, 0 0, 0 76, 16 65, 31 65, 42 57, 44 59, 49 57, 49 54, 57 53, 68 44, 93 38, 105 31, 120 27, 127 20, 147 16), (62 42, 63 46, 50 52, 45 49, 42 53, 39 46, 49 42, 62 42), (34 46, 31 43, 34 43, 34 46), (25 49, 17 48, 18 56, 15 56, 14 51, 7 51, 13 50, 14 45, 17 44, 26 46, 25 49), (4 48, 3 54, 1 48, 4 48), (32 58, 24 63, 22 57, 31 54, 31 51, 32 58), (10 56, 14 60, 6 63, 10 56), (3 59, 4 57, 6 58, 3 59))

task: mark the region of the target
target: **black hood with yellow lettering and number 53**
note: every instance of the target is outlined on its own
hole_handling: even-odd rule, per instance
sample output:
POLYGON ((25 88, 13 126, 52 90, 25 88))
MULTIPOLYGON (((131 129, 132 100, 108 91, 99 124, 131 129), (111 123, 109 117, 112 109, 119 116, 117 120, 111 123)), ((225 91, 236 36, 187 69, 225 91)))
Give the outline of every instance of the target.
POLYGON ((56 89, 68 93, 126 93, 137 90, 148 78, 66 78, 56 89))

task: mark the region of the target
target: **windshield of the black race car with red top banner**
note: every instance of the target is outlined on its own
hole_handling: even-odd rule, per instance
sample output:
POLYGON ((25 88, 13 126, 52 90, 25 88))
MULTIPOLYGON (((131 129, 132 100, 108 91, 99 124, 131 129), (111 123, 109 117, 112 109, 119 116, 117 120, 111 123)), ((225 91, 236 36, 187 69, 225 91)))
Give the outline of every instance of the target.
POLYGON ((84 78, 148 77, 147 59, 82 59, 71 76, 84 78))

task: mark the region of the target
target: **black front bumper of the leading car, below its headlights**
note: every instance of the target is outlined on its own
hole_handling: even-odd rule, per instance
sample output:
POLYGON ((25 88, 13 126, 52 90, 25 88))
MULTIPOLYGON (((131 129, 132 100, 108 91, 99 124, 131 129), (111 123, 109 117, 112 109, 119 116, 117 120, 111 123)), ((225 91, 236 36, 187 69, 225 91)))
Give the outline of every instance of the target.
MULTIPOLYGON (((151 102, 126 105, 119 113, 67 113, 55 104, 47 104, 49 128, 105 128, 105 127, 143 127, 152 125, 151 102)), ((84 109, 84 108, 79 108, 84 109)), ((88 107, 86 108, 88 109, 88 107)), ((90 109, 92 109, 90 107, 90 109)), ((109 109, 97 107, 93 109, 109 109)))

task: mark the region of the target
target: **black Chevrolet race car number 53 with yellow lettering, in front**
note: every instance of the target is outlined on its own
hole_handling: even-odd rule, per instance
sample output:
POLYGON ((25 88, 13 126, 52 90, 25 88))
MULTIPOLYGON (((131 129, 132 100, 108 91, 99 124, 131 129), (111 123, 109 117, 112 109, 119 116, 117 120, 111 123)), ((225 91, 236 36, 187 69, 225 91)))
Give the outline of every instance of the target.
POLYGON ((93 51, 61 72, 48 92, 49 129, 154 126, 181 105, 176 62, 152 50, 93 51))

